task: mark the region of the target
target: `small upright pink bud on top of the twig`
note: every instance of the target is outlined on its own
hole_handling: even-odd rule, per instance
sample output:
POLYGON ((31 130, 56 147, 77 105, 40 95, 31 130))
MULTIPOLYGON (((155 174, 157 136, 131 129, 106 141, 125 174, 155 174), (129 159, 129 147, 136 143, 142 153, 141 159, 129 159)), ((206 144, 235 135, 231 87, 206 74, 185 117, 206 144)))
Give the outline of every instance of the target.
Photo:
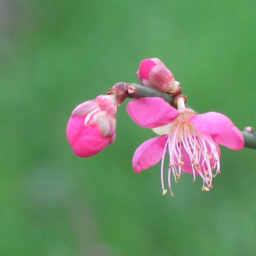
POLYGON ((142 60, 136 75, 142 85, 162 92, 175 93, 180 84, 157 58, 142 60))

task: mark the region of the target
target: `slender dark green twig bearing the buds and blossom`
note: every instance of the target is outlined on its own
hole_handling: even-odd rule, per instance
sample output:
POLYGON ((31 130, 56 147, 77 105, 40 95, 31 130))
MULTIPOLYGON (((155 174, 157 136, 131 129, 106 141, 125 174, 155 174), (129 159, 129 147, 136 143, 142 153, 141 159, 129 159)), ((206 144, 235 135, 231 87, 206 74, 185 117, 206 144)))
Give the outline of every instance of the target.
MULTIPOLYGON (((159 97, 176 108, 173 104, 174 97, 172 95, 156 91, 155 89, 140 84, 127 84, 126 93, 127 98, 159 97)), ((186 105, 186 107, 190 108, 188 105, 186 105)), ((244 137, 244 147, 256 149, 256 134, 253 132, 253 129, 250 131, 245 129, 242 135, 244 137)))

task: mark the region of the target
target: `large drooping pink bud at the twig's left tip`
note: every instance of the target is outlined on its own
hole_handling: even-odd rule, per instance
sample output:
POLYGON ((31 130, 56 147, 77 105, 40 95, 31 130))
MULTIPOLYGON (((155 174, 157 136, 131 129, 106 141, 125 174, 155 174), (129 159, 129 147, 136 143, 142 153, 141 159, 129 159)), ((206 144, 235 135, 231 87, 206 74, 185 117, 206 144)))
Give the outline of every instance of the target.
POLYGON ((75 155, 93 156, 115 140, 116 111, 114 94, 99 95, 73 110, 66 134, 75 155))

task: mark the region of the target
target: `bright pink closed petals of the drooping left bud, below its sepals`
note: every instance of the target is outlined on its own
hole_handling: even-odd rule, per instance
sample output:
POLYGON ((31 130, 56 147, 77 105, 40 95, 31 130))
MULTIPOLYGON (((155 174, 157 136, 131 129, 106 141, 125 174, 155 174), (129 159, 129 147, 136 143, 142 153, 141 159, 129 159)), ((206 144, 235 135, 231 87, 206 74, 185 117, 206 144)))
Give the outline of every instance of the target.
POLYGON ((67 139, 76 156, 89 157, 99 153, 109 143, 96 124, 84 125, 84 117, 71 117, 67 126, 67 139))

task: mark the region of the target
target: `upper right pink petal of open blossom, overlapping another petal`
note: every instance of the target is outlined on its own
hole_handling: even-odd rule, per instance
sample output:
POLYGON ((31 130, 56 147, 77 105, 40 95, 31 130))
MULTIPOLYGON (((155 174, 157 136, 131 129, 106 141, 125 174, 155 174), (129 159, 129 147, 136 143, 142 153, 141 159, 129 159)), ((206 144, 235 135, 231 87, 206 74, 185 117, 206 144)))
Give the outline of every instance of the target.
POLYGON ((189 123, 195 125, 199 132, 206 134, 225 133, 234 126, 227 116, 217 112, 193 116, 190 118, 189 123))

